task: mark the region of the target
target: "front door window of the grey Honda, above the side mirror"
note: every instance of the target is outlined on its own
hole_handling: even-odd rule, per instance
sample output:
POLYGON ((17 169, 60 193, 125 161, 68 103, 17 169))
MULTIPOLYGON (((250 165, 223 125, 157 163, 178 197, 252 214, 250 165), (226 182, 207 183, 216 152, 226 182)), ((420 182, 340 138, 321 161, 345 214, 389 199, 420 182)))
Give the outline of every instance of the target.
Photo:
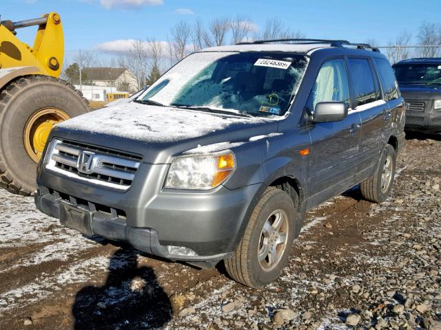
POLYGON ((316 83, 309 94, 307 108, 314 112, 319 102, 345 102, 349 108, 349 83, 345 62, 338 58, 325 62, 320 67, 316 83))

